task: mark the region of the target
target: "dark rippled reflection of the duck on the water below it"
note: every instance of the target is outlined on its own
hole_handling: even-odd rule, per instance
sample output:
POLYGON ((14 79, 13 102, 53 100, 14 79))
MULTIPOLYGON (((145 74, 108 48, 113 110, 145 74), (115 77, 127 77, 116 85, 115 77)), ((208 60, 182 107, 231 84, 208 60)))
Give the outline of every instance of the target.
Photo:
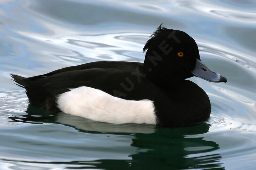
MULTIPOLYGON (((212 154, 220 147, 214 141, 197 137, 207 133, 210 125, 202 123, 190 127, 163 128, 147 124, 109 124, 95 122, 81 117, 58 113, 51 115, 47 111, 29 105, 28 115, 11 116, 11 121, 27 123, 58 123, 73 127, 78 137, 86 138, 86 134, 114 134, 131 137, 137 152, 128 155, 131 159, 100 159, 91 161, 75 161, 74 165, 89 169, 224 169, 221 154, 212 154), (40 116, 40 117, 38 117, 40 116), (90 167, 88 167, 90 166, 90 167)), ((84 144, 86 145, 86 143, 84 144)), ((84 152, 86 154, 86 151, 84 152)), ((86 156, 86 155, 85 155, 86 156)), ((90 156, 90 155, 88 155, 90 156)), ((77 166, 76 166, 77 167, 77 166)))

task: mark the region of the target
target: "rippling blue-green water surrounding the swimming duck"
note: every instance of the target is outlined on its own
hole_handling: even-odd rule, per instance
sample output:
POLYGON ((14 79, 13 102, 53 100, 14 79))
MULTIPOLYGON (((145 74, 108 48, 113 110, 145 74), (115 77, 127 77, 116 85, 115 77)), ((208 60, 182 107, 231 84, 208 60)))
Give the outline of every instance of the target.
POLYGON ((0 1, 0 169, 255 169, 256 2, 0 1), (228 78, 191 81, 210 97, 192 127, 114 125, 29 106, 24 77, 92 61, 144 61, 157 26, 192 36, 228 78))

